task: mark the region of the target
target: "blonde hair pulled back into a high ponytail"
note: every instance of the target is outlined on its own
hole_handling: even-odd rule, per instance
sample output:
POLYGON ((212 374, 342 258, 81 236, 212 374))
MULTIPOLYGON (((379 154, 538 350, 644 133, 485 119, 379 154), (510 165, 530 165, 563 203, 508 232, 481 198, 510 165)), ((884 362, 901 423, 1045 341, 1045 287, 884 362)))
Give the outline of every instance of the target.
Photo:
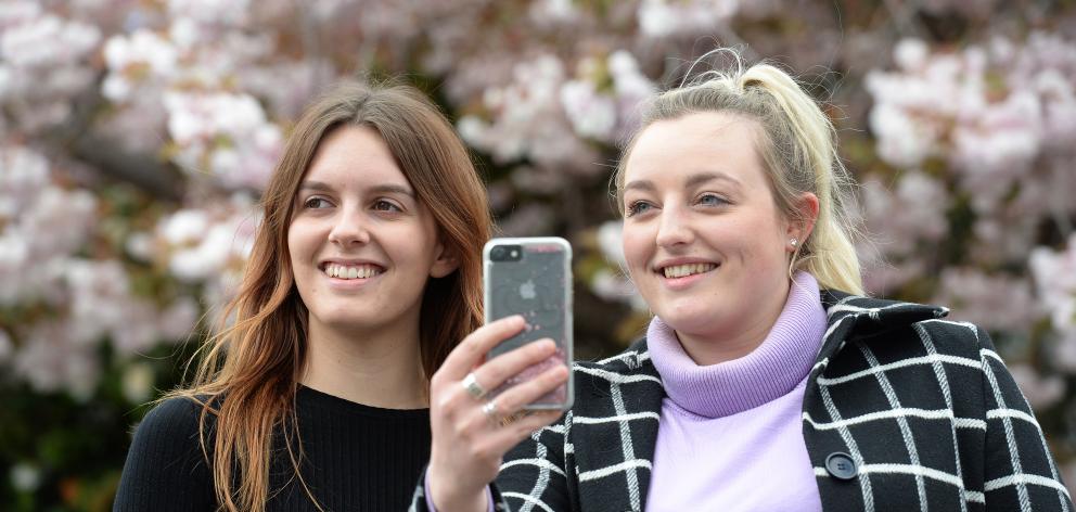
POLYGON ((617 165, 617 201, 623 204, 623 165, 645 127, 699 112, 753 119, 760 127, 757 150, 769 170, 778 208, 797 221, 798 197, 805 192, 818 197, 815 228, 795 253, 792 268, 810 272, 823 289, 862 294, 859 257, 853 244, 859 230, 849 215, 854 181, 837 157, 833 124, 787 73, 765 63, 744 68, 739 53, 731 49, 715 50, 700 61, 714 53, 730 54, 735 65, 728 72, 701 74, 659 94, 643 113, 642 125, 617 165))

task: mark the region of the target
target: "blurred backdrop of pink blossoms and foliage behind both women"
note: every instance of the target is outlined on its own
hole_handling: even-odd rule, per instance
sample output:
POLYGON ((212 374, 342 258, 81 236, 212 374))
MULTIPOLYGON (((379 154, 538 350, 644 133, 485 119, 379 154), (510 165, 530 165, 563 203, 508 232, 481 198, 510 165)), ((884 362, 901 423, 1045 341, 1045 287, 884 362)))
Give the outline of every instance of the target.
POLYGON ((1072 0, 7 0, 0 507, 110 509, 292 124, 341 77, 434 98, 502 234, 573 242, 578 356, 618 350, 646 311, 619 270, 617 143, 719 46, 825 102, 870 291, 988 329, 1076 490, 1072 0))

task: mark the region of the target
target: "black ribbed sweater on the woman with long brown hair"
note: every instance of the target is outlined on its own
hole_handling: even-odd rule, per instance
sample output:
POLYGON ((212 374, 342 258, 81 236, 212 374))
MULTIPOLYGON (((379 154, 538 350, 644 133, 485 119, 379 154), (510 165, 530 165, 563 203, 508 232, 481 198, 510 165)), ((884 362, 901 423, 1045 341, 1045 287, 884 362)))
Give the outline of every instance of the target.
MULTIPOLYGON (((174 398, 145 415, 127 455, 114 511, 217 509, 213 473, 198 444, 200 412, 192 400, 174 398)), ((295 412, 303 477, 323 510, 407 508, 430 459, 428 409, 380 409, 300 386, 295 412)), ((266 510, 317 510, 293 475, 278 432, 266 510)))

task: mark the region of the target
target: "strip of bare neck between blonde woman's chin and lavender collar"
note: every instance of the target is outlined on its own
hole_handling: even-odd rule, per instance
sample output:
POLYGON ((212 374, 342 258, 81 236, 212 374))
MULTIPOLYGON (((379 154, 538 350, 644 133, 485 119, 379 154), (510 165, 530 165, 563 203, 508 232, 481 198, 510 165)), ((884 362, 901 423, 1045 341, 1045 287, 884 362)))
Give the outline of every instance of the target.
POLYGON ((683 350, 695 364, 701 367, 740 359, 763 344, 770 333, 777 319, 781 317, 784 304, 789 299, 789 281, 783 282, 783 292, 773 294, 770 302, 763 306, 760 315, 751 322, 730 327, 717 333, 688 333, 677 331, 683 350))

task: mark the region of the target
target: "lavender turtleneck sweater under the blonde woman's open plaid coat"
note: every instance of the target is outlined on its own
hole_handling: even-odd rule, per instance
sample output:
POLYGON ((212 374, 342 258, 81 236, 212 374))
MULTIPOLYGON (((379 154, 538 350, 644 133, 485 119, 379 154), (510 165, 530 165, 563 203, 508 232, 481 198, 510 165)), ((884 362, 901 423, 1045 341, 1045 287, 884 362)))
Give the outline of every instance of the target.
POLYGON ((646 344, 668 396, 646 510, 820 511, 800 410, 824 333, 806 272, 766 340, 740 359, 700 367, 655 317, 646 344))

